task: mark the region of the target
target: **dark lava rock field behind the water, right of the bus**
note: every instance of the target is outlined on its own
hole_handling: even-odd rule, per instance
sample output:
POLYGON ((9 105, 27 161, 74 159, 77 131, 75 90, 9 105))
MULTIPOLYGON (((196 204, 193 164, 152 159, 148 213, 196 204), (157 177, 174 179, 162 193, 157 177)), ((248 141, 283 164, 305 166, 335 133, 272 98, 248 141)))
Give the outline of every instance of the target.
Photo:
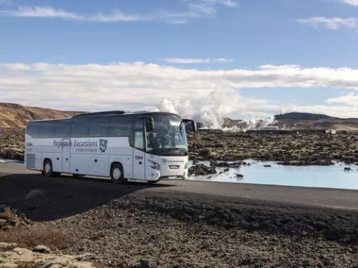
POLYGON ((190 158, 238 161, 260 159, 284 165, 358 163, 358 135, 256 135, 220 131, 189 134, 190 158))

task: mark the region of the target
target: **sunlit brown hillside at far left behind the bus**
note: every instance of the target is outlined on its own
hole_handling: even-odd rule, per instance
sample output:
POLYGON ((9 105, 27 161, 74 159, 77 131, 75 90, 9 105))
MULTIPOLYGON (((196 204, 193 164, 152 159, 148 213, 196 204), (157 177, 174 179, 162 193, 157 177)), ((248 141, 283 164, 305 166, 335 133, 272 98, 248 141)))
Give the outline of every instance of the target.
POLYGON ((73 116, 79 112, 59 111, 39 107, 26 107, 0 102, 0 128, 25 128, 27 121, 73 116))

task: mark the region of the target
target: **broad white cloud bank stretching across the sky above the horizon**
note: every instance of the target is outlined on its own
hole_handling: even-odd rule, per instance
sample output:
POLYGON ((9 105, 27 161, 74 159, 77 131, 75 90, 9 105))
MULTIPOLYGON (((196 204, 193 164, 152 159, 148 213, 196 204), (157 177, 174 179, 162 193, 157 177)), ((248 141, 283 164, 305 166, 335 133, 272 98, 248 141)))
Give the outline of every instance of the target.
MULTIPOLYGON (((265 65, 258 69, 199 70, 155 64, 0 64, 0 100, 75 110, 170 109, 183 116, 282 111, 352 116, 358 107, 297 106, 244 98, 240 88, 349 88, 358 91, 358 69, 265 65), (166 100, 165 100, 166 99, 166 100)), ((326 104, 324 102, 324 104, 326 104)))

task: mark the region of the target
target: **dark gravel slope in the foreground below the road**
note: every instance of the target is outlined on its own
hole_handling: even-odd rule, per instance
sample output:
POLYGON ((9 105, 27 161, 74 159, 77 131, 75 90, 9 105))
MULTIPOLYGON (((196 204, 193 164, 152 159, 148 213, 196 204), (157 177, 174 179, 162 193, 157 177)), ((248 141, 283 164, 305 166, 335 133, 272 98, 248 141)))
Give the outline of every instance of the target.
POLYGON ((357 267, 357 214, 124 196, 55 221, 108 267, 357 267))

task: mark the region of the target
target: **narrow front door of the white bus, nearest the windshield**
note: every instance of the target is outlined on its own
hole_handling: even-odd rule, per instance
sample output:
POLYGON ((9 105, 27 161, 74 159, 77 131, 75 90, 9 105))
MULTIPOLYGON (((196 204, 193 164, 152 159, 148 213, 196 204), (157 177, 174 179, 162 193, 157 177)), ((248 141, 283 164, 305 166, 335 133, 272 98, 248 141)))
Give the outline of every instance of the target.
POLYGON ((142 123, 142 120, 135 121, 134 130, 133 179, 137 180, 145 180, 145 138, 142 123))

